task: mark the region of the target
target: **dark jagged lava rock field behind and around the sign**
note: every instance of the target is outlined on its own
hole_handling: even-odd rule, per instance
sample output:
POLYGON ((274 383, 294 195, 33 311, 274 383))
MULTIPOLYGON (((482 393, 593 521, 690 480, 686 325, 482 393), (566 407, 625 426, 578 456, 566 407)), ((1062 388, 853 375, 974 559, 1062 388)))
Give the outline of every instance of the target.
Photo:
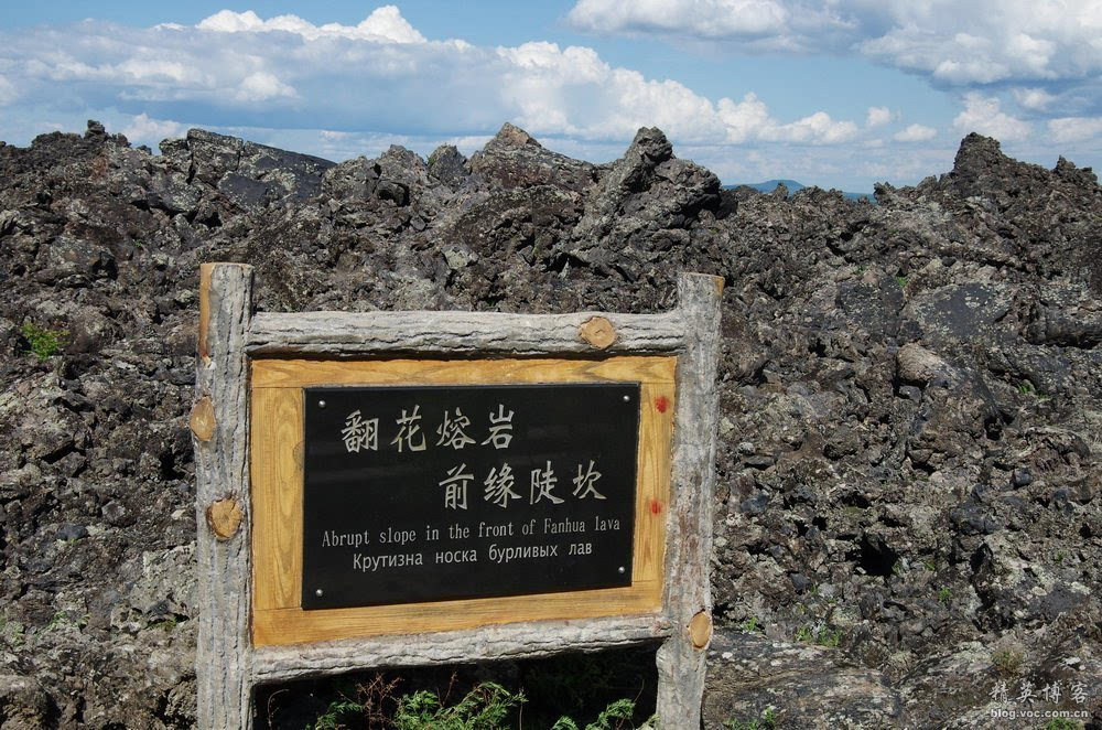
POLYGON ((212 260, 256 266, 264 310, 659 311, 680 270, 723 276, 709 727, 992 724, 998 683, 1099 721, 1091 171, 970 136, 869 204, 722 190, 655 129, 604 165, 508 125, 469 160, 162 152, 0 147, 0 726, 194 718, 212 260))

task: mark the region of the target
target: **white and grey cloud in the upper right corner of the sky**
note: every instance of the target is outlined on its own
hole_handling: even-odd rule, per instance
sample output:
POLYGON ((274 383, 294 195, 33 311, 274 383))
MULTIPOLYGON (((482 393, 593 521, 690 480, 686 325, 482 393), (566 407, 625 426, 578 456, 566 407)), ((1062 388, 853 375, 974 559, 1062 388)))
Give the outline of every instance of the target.
POLYGON ((1099 0, 577 0, 568 21, 731 53, 860 54, 944 86, 1100 95, 1099 0))

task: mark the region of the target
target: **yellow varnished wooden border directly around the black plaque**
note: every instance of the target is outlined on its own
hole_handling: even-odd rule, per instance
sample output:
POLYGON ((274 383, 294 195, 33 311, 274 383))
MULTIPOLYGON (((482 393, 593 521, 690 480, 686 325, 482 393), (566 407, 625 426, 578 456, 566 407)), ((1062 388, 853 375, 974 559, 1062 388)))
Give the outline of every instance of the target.
POLYGON ((660 612, 676 373, 677 357, 672 356, 606 361, 255 361, 255 645, 660 612), (635 580, 630 588, 357 609, 301 609, 302 387, 640 380, 635 580))

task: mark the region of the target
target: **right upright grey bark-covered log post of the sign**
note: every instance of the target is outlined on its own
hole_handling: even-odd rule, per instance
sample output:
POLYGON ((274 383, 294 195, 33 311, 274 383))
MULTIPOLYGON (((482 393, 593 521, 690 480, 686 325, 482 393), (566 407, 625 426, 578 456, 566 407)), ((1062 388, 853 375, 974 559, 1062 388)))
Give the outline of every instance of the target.
MULTIPOLYGON (((678 311, 685 323, 678 361, 673 498, 666 548, 666 615, 674 632, 658 650, 658 717, 662 728, 700 727, 706 645, 694 646, 690 623, 711 614, 712 494, 715 487, 720 300, 723 280, 685 273, 678 311)), ((693 632, 698 633, 699 632, 693 632)))

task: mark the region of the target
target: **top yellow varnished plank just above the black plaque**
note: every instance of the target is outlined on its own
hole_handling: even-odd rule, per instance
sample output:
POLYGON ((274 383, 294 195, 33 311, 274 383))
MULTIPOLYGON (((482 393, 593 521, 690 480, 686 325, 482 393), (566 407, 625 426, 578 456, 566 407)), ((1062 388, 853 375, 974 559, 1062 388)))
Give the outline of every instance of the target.
POLYGON ((517 383, 665 383, 672 385, 677 357, 605 359, 257 359, 252 388, 317 385, 490 385, 517 383))

